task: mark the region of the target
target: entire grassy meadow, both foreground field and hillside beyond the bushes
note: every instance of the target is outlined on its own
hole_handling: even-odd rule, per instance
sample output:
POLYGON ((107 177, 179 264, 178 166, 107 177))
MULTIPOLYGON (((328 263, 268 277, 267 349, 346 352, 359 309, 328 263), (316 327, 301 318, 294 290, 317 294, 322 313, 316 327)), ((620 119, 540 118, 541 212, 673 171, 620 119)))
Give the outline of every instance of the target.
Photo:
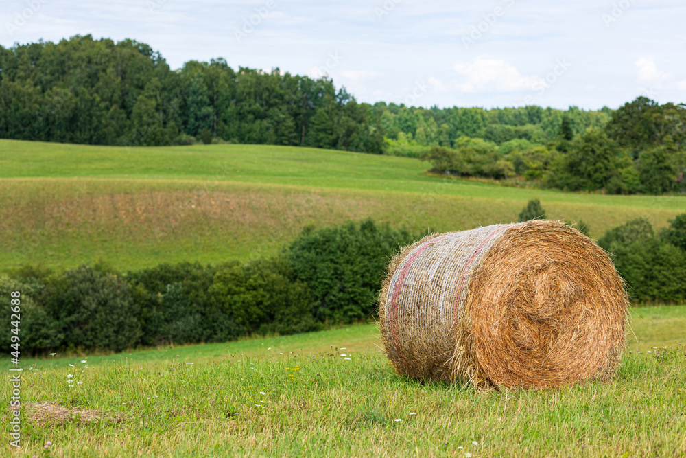
MULTIPOLYGON (((276 253, 307 225, 369 216, 414 231, 470 229, 516 220, 530 198, 596 237, 638 217, 665 227, 686 211, 683 196, 504 187, 437 178, 428 166, 277 146, 0 140, 0 271, 248 259, 276 253)), ((615 380, 556 390, 398 376, 375 325, 23 357, 23 448, 3 448, 17 457, 686 457, 686 306, 631 314, 615 380)), ((10 389, 0 387, 3 397, 10 389)))

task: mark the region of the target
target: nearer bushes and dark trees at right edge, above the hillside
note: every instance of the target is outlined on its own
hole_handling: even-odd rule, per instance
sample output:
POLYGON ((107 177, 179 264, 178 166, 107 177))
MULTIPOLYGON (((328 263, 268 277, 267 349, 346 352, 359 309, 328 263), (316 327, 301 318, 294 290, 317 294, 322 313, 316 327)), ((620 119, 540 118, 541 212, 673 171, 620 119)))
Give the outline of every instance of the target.
POLYGON ((563 115, 556 136, 497 143, 461 137, 451 148, 432 146, 421 158, 434 172, 518 181, 572 191, 663 194, 686 190, 686 104, 639 97, 604 126, 582 132, 563 115))

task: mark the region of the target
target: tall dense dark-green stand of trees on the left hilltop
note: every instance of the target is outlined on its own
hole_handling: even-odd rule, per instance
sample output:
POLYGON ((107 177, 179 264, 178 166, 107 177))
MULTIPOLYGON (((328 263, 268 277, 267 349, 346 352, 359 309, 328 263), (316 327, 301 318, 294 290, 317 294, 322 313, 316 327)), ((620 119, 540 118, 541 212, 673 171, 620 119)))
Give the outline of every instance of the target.
POLYGON ((186 62, 91 36, 0 47, 0 137, 101 145, 196 141, 380 153, 368 104, 327 78, 186 62))

